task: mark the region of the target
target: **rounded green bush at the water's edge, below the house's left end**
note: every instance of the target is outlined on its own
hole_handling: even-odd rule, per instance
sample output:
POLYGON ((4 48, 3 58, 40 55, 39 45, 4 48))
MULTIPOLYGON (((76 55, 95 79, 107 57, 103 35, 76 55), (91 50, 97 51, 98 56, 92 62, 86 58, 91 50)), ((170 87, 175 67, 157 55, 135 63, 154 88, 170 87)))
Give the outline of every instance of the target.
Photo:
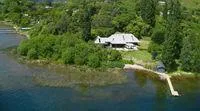
POLYGON ((88 56, 88 61, 87 61, 87 65, 93 68, 97 68, 100 66, 100 59, 98 57, 98 55, 96 54, 91 54, 90 56, 88 56))

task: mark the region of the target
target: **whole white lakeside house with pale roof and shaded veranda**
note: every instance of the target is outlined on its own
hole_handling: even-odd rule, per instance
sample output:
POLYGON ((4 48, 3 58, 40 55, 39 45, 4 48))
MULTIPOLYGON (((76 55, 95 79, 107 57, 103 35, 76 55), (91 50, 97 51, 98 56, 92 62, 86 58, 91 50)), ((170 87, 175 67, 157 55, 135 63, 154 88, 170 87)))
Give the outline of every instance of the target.
POLYGON ((95 44, 101 44, 105 47, 111 48, 127 48, 135 49, 140 41, 129 33, 115 33, 110 37, 97 37, 95 44))

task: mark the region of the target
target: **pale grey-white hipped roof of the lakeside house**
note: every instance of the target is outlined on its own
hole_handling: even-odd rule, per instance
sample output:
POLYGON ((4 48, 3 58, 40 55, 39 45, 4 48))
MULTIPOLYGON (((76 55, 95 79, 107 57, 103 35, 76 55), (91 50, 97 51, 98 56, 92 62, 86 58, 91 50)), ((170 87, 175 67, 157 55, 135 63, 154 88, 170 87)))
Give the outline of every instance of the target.
POLYGON ((139 43, 140 41, 133 34, 115 33, 108 38, 97 37, 95 43, 99 44, 127 44, 127 43, 139 43))

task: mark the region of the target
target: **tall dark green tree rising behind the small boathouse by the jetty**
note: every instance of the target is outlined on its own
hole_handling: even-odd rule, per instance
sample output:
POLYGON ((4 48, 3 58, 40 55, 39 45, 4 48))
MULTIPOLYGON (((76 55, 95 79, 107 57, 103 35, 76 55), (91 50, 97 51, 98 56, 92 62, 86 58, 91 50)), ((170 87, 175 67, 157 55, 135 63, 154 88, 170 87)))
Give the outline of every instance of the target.
POLYGON ((176 69, 176 59, 181 52, 181 5, 178 0, 169 1, 169 14, 166 21, 165 41, 162 49, 162 61, 168 71, 176 69))

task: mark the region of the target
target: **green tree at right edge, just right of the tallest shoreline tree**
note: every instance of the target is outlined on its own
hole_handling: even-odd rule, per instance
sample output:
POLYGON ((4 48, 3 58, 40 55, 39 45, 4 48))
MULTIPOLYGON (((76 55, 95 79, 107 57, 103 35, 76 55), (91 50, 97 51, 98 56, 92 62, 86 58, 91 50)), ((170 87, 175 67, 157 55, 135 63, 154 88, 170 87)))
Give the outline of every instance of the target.
POLYGON ((180 62, 184 71, 200 72, 200 38, 194 31, 183 39, 180 62))

